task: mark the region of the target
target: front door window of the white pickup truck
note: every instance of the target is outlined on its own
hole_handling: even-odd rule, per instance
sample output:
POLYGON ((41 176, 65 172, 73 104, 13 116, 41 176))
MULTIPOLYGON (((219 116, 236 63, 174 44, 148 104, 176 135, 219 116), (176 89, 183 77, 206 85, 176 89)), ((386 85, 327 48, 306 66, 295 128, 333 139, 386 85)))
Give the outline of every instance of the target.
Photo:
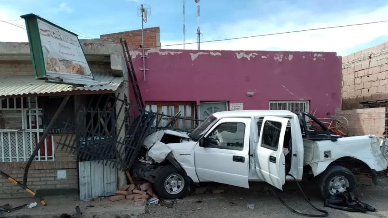
POLYGON ((209 135, 210 147, 242 151, 245 123, 221 123, 209 135))

